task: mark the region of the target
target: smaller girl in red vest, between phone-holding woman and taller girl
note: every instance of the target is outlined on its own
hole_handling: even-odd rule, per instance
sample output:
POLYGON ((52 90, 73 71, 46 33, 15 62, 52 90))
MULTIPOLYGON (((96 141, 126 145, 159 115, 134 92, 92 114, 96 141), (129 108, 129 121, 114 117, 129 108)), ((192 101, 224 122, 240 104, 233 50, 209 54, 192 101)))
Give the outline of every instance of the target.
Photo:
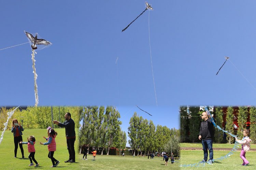
POLYGON ((29 152, 29 155, 28 155, 28 158, 30 159, 30 164, 28 166, 33 166, 33 162, 32 160, 34 161, 35 163, 35 166, 34 167, 38 167, 39 164, 38 162, 35 160, 35 137, 34 136, 29 136, 28 139, 28 142, 22 142, 20 141, 19 143, 21 144, 27 144, 28 145, 28 152, 29 152))

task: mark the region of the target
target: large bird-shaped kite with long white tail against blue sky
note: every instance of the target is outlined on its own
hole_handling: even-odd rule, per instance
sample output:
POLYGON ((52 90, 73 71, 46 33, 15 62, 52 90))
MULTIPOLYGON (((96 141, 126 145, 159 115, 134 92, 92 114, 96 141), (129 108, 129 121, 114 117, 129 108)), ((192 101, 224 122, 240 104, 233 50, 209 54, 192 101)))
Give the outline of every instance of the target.
MULTIPOLYGON (((46 41, 45 39, 38 39, 38 33, 35 34, 35 36, 33 36, 32 34, 24 31, 26 36, 28 37, 30 43, 31 43, 31 48, 32 48, 32 62, 33 62, 33 73, 34 73, 34 92, 35 92, 35 106, 38 105, 39 100, 38 100, 38 90, 37 90, 37 72, 35 70, 35 54, 37 54, 37 52, 35 52, 37 48, 37 45, 52 45, 52 43, 50 43, 49 41, 46 41)), ((43 48, 42 48, 43 49, 43 48)))

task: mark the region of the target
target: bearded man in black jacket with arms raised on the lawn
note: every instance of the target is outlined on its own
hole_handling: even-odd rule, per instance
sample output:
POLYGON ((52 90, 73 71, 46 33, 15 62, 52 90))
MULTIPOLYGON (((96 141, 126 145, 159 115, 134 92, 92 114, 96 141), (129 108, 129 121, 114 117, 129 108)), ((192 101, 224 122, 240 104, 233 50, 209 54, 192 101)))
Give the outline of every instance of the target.
POLYGON ((73 119, 71 119, 71 114, 66 113, 65 114, 65 122, 60 123, 56 120, 53 121, 54 124, 57 124, 60 127, 65 127, 66 131, 66 138, 67 138, 67 146, 69 151, 69 160, 66 160, 65 162, 69 163, 75 163, 75 149, 74 149, 74 143, 75 143, 75 122, 73 119))

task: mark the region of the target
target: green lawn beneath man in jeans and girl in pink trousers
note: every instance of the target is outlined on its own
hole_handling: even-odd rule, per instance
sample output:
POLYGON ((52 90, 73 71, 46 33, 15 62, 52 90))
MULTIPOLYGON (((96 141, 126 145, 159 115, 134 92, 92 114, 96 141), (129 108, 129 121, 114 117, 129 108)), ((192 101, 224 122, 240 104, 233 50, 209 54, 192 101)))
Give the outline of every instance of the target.
MULTIPOLYGON (((239 148, 241 150, 241 148, 239 148)), ((225 156, 230 151, 213 151, 213 158, 217 159, 221 156, 225 156)), ((255 160, 255 151, 247 151, 246 159, 250 162, 248 166, 240 166, 242 164, 242 159, 240 158, 240 152, 236 151, 233 155, 231 155, 227 159, 223 159, 222 161, 218 160, 214 164, 205 164, 204 167, 200 166, 200 169, 221 169, 221 170, 234 170, 234 169, 256 169, 256 160, 255 160)), ((181 150, 181 164, 194 164, 198 163, 203 159, 203 151, 199 150, 181 150)), ((209 159, 209 154, 208 154, 209 159)), ((198 169, 198 167, 181 167, 182 170, 186 169, 198 169)))

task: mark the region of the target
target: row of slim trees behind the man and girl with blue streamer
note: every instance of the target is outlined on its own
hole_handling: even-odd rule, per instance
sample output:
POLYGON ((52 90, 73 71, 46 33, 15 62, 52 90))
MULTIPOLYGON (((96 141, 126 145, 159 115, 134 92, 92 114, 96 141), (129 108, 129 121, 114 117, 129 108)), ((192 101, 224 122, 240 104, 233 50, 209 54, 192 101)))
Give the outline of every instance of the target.
MULTIPOLYGON (((231 134, 243 137, 243 130, 246 129, 247 120, 250 119, 250 138, 256 142, 256 107, 240 106, 238 110, 234 111, 234 108, 229 106, 227 109, 223 107, 214 107, 213 117, 216 120, 216 124, 223 130, 230 132, 231 134), (236 113, 236 116, 234 115, 236 113), (224 122, 224 114, 226 116, 224 122), (237 129, 234 126, 234 121, 237 120, 237 129), (223 126, 224 124, 224 126, 223 126)), ((181 142, 199 142, 198 135, 200 129, 200 123, 202 121, 200 115, 203 111, 199 110, 199 107, 190 107, 190 115, 187 113, 187 106, 180 107, 180 120, 181 120, 181 142)), ((229 134, 224 134, 223 131, 215 129, 214 141, 216 143, 234 143, 234 137, 229 134)))

